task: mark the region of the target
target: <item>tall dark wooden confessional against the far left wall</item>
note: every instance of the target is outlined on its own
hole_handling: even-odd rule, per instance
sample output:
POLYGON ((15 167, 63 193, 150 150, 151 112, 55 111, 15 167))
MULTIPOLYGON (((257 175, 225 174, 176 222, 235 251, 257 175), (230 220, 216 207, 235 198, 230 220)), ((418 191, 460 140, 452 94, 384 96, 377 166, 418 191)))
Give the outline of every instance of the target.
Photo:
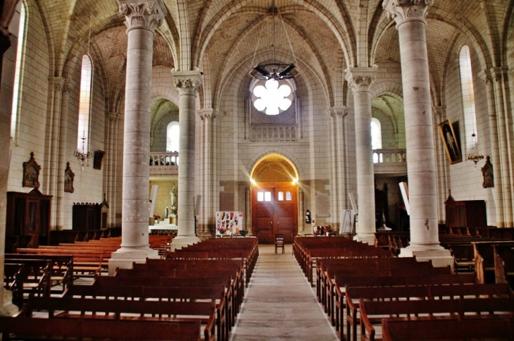
POLYGON ((7 192, 6 236, 32 236, 29 244, 46 244, 50 228, 51 195, 37 188, 7 192))

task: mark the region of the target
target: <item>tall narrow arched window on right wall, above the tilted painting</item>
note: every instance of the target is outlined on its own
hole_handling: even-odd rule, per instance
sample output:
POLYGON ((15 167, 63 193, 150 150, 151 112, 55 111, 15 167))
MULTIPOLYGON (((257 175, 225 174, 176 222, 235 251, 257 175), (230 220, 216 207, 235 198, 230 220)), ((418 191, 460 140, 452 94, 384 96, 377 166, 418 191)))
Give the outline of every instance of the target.
POLYGON ((473 90, 470 48, 467 45, 462 46, 460 49, 458 61, 460 67, 460 89, 462 89, 466 147, 470 149, 477 142, 476 135, 472 136, 477 133, 477 116, 475 113, 475 92, 473 90))

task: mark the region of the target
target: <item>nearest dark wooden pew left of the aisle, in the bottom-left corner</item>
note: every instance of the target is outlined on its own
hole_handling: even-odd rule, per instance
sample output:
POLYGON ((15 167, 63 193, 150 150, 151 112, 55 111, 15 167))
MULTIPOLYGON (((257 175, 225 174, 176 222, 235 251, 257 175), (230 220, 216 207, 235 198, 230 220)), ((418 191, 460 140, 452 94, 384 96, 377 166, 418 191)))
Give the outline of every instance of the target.
POLYGON ((2 340, 48 340, 45 337, 110 340, 201 340, 200 321, 107 320, 0 316, 2 340))

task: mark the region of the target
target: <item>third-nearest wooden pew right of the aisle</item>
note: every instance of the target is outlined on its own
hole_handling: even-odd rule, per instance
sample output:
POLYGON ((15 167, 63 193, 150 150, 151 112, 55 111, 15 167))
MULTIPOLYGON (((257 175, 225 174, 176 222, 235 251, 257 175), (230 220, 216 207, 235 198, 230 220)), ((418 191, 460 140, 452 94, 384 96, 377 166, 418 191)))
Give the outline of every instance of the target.
POLYGON ((359 299, 366 301, 399 301, 412 299, 465 299, 479 297, 514 297, 506 284, 418 285, 413 287, 348 287, 346 286, 346 338, 357 340, 359 299))

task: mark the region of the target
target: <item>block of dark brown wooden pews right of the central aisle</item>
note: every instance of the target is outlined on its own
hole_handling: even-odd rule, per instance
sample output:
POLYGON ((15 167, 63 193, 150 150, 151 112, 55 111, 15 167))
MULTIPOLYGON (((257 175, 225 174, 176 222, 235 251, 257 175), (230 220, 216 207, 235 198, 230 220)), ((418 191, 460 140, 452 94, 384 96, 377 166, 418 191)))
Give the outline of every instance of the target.
POLYGON ((453 274, 412 257, 370 249, 366 256, 361 243, 335 239, 296 238, 295 249, 317 255, 318 301, 341 340, 357 340, 358 333, 361 340, 514 340, 507 283, 477 283, 474 273, 453 274))

